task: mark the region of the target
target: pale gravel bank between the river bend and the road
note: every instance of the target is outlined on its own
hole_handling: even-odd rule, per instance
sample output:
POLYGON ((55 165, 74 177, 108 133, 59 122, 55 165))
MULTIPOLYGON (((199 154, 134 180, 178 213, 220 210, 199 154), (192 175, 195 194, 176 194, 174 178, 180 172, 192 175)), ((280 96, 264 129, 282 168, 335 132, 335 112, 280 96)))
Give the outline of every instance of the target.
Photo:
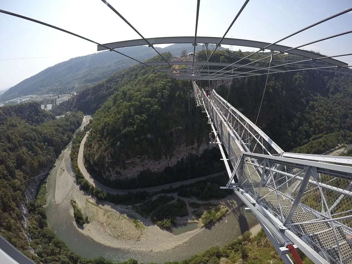
MULTIPOLYGON (((85 117, 85 122, 89 119, 85 117)), ((76 184, 70 164, 70 145, 61 153, 56 166, 56 188, 55 202, 59 206, 67 206, 71 199, 76 200, 84 215, 88 216, 89 222, 76 228, 79 232, 93 240, 114 248, 139 251, 165 251, 185 243, 194 235, 202 232, 204 228, 197 228, 179 235, 162 230, 156 226, 150 218, 143 218, 131 206, 114 205, 110 202, 95 200, 92 196, 84 192, 76 184), (139 219, 145 226, 144 229, 137 229, 133 219, 139 219)), ((177 193, 168 194, 177 198, 177 193)), ((189 202, 199 202, 196 199, 182 198, 187 203, 189 216, 176 219, 176 224, 196 221, 193 218, 189 202)), ((228 195, 222 201, 210 200, 207 202, 218 205, 226 205, 230 211, 238 209, 238 198, 235 194, 228 195)), ((71 208, 71 207, 70 207, 71 208)), ((73 209, 70 210, 71 217, 67 220, 74 222, 73 209)), ((258 227, 253 232, 258 232, 258 227)), ((260 230, 260 228, 259 228, 260 230)), ((240 234, 239 234, 240 235, 240 234)))

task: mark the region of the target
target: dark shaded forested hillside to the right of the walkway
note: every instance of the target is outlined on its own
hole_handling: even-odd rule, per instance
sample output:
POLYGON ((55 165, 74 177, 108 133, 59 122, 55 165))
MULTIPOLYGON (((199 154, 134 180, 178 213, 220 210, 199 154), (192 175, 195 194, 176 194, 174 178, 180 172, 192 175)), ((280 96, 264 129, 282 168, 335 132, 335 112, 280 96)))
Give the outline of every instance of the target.
MULTIPOLYGON (((238 59, 235 56, 248 54, 240 51, 220 51, 215 52, 210 61, 234 62, 238 59)), ((268 53, 260 53, 251 58, 258 59, 267 55, 268 53)), ((197 54, 197 59, 205 58, 205 51, 197 54)), ((275 57, 274 63, 297 59, 301 57, 279 55, 275 57)), ((249 62, 249 59, 241 61, 243 64, 249 62)), ((268 61, 253 65, 267 67, 268 61)), ((300 66, 302 65, 304 64, 300 66)), ((314 65, 323 66, 326 63, 315 62, 314 65)), ((297 69, 289 66, 280 68, 297 69)), ((315 135, 352 131, 351 73, 350 69, 338 69, 270 74, 257 125, 285 151, 307 144, 315 135)), ((211 87, 216 85, 216 92, 225 98, 230 88, 228 101, 250 120, 255 121, 265 81, 266 75, 261 75, 233 79, 231 82, 214 81, 211 87)), ((319 151, 325 150, 326 148, 319 151)), ((310 150, 310 153, 312 151, 310 150)))

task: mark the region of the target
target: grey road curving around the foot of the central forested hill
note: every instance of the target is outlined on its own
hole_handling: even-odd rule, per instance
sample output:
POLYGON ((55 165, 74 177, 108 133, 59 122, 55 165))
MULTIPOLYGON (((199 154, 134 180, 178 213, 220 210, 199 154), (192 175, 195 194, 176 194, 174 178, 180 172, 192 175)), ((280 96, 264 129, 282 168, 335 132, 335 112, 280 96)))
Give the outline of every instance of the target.
POLYGON ((120 190, 120 189, 110 188, 108 186, 105 186, 105 185, 101 184, 97 180, 95 180, 89 174, 89 172, 87 171, 86 167, 84 166, 84 163, 83 163, 83 149, 84 149, 84 143, 86 142, 88 133, 89 133, 89 131, 83 137, 81 145, 80 145, 80 151, 78 152, 78 159, 77 159, 78 167, 80 168, 80 171, 82 172, 84 178, 86 178, 86 180, 90 184, 92 184, 93 186, 98 187, 99 189, 101 189, 103 191, 106 191, 107 193, 111 193, 111 194, 127 194, 127 193, 136 193, 137 191, 159 191, 159 190, 167 189, 167 188, 170 188, 170 187, 178 187, 178 186, 181 186, 183 184, 188 184, 188 183, 194 183, 194 182, 197 182, 197 181, 201 181, 201 180, 204 180, 206 178, 218 176, 218 175, 223 174, 225 172, 225 171, 222 171, 222 172, 206 175, 206 176, 203 176, 203 177, 193 178, 193 179, 186 180, 186 181, 168 183, 168 184, 154 186, 154 187, 149 187, 149 188, 129 189, 129 190, 120 190))

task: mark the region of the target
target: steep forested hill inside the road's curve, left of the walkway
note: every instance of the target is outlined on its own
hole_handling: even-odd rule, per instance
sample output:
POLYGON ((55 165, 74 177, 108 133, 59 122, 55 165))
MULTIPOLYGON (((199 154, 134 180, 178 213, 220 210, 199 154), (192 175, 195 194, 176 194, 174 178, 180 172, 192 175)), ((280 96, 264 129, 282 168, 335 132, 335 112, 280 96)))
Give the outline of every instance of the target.
POLYGON ((195 153, 190 178, 223 170, 220 157, 207 149, 209 128, 192 99, 189 111, 187 80, 134 66, 105 85, 115 93, 95 112, 85 144, 86 161, 101 182, 128 188, 137 182, 144 187, 185 180, 189 147, 195 153), (119 182, 131 178, 133 183, 119 182))

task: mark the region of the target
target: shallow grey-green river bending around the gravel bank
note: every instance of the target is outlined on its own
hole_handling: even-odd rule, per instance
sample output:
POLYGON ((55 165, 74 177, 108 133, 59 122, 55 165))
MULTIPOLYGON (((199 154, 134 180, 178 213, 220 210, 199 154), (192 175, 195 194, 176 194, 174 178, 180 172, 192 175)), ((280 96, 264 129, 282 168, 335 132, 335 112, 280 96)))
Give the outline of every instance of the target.
MULTIPOLYGON (((86 116, 85 122, 88 121, 89 118, 86 116)), ((83 126, 79 129, 82 128, 83 126)), ((73 177, 72 168, 70 166, 70 150, 71 143, 67 146, 67 150, 63 151, 56 160, 56 166, 48 176, 46 214, 48 225, 56 232, 57 237, 63 240, 71 250, 83 257, 96 258, 102 256, 116 263, 125 261, 129 258, 144 263, 163 263, 166 261, 182 260, 195 253, 205 251, 211 246, 224 246, 237 238, 241 233, 257 224, 257 220, 254 219, 252 213, 244 213, 244 208, 238 207, 227 213, 226 216, 211 229, 204 228, 185 243, 170 250, 161 252, 131 251, 100 244, 92 238, 82 234, 73 221, 73 216, 70 213, 70 199, 78 186, 73 183, 72 186, 68 188, 67 194, 61 202, 57 203, 55 199, 56 174, 60 169, 59 166, 63 163, 63 160, 66 164, 65 167, 67 172, 73 177)))

